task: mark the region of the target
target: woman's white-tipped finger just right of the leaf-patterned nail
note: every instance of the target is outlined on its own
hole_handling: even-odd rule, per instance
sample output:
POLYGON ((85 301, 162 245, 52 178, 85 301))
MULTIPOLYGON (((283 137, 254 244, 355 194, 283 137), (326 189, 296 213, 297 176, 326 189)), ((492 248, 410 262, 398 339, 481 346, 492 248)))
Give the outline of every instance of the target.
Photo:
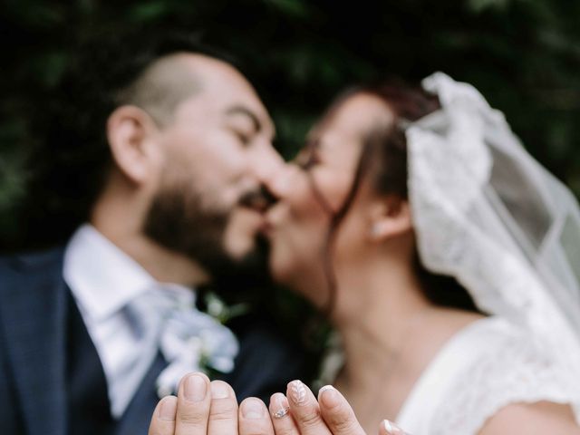
POLYGON ((318 391, 318 404, 333 435, 364 435, 353 408, 333 386, 326 385, 318 391))

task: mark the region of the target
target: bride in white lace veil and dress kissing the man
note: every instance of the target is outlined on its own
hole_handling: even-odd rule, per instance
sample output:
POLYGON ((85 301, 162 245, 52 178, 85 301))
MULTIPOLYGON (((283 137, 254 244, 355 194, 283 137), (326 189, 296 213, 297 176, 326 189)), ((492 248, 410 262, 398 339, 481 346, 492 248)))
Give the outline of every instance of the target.
MULTIPOLYGON (((473 87, 423 87, 333 103, 270 187, 272 275, 333 324, 324 382, 366 433, 580 433, 575 198, 473 87)), ((273 396, 278 435, 311 396, 273 396)))

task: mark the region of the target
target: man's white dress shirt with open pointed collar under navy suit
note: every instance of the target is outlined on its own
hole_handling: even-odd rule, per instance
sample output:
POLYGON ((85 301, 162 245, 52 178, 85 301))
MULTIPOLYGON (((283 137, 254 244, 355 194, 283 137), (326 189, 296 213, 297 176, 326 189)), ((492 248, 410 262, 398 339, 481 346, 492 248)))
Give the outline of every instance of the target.
POLYGON ((144 339, 143 328, 159 331, 163 304, 148 301, 170 293, 193 307, 195 293, 156 281, 91 225, 80 227, 66 247, 63 276, 101 359, 111 414, 119 419, 158 352, 155 340, 144 339))

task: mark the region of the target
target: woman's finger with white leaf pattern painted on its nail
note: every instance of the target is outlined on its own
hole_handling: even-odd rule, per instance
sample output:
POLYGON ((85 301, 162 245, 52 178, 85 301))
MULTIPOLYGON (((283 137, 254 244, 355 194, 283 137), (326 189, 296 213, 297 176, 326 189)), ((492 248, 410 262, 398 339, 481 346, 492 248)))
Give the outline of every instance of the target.
POLYGON ((326 427, 318 402, 314 394, 303 382, 293 381, 288 383, 286 397, 290 405, 292 417, 302 435, 330 435, 331 431, 326 427))

